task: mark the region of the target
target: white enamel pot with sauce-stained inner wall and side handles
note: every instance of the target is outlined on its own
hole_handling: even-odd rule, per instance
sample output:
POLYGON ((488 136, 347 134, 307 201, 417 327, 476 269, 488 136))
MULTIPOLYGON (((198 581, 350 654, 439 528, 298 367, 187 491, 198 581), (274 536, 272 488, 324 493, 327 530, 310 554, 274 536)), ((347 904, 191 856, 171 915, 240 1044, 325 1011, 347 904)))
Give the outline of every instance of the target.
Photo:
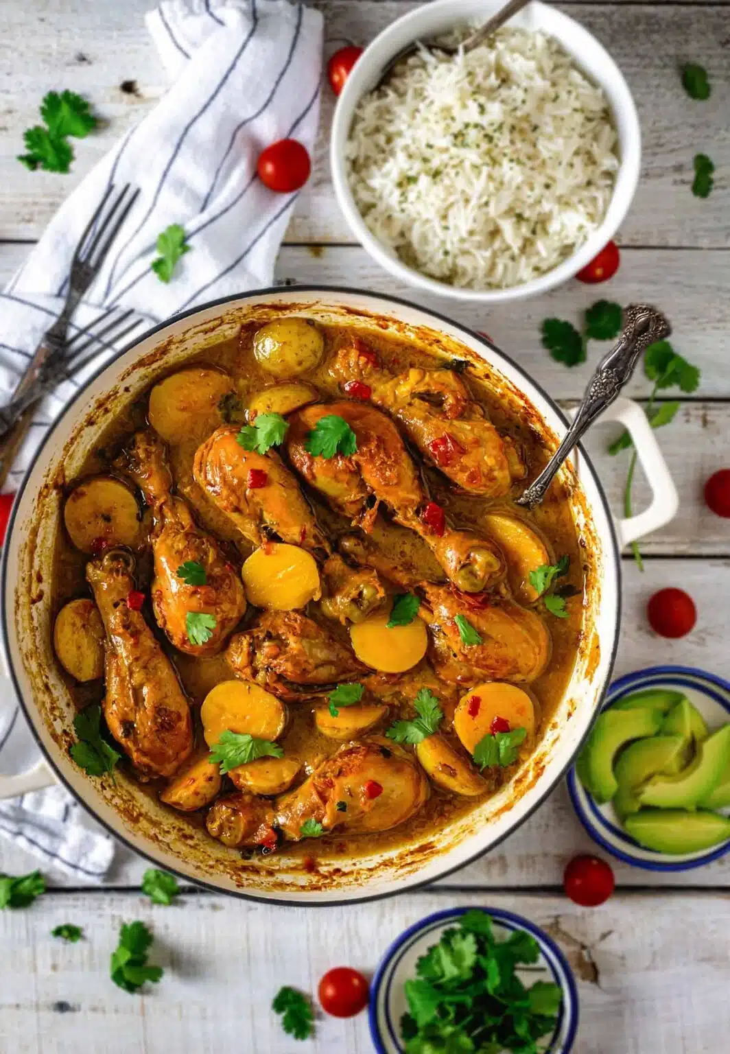
MULTIPOLYGON (((461 326, 403 300, 357 290, 273 289, 220 300, 157 327, 88 380, 56 422, 18 493, 2 558, 2 652, 20 705, 44 761, 20 777, 0 777, 6 798, 60 780, 117 838, 157 865, 212 889, 281 903, 336 903, 401 892, 442 878, 493 848, 515 829, 564 776, 597 714, 609 683, 620 613, 619 546, 667 523, 676 492, 643 410, 619 399, 610 411, 631 433, 653 497, 649 508, 614 522, 583 451, 561 470, 587 565, 584 625, 572 680, 532 758, 498 794, 436 836, 358 858, 327 861, 314 874, 285 850, 243 859, 201 826, 160 805, 122 774, 90 778, 68 755, 74 705, 52 644, 53 547, 63 487, 119 410, 151 379, 193 353, 235 336, 243 321, 284 314, 338 321, 364 334, 383 329, 447 357, 465 348, 484 362, 500 397, 551 446, 566 431, 552 399, 514 362, 461 326)), ((212 356, 211 356, 212 357, 212 356)))

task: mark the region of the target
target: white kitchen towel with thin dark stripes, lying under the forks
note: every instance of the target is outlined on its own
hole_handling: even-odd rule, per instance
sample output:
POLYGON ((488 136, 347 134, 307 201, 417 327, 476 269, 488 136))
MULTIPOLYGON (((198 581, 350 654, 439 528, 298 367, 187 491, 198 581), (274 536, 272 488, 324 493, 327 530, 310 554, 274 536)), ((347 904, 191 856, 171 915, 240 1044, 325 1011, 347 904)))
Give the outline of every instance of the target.
MULTIPOLYGON (((163 0, 146 23, 171 87, 68 197, 0 293, 0 403, 9 397, 28 355, 60 312, 74 249, 111 184, 129 182, 140 194, 72 333, 110 308, 132 309, 152 325, 196 304, 272 284, 276 253, 298 195, 268 190, 256 176, 256 161, 264 147, 287 137, 313 151, 322 17, 289 0, 163 0), (191 251, 165 285, 151 264, 157 236, 171 223, 184 228, 191 251)), ((17 489, 48 425, 84 377, 115 350, 101 348, 95 360, 72 372, 42 401, 6 490, 17 489)), ((27 760, 27 750, 12 748, 22 723, 14 718, 16 706, 7 694, 0 698, 2 773, 17 772, 21 756, 27 760), (12 729, 4 743, 3 726, 12 729)), ((35 840, 36 851, 51 862, 61 846, 62 870, 83 876, 84 868, 95 868, 91 877, 101 877, 104 854, 95 857, 85 837, 70 841, 67 824, 76 822, 77 811, 52 807, 58 794, 36 793, 20 805, 0 803, 0 834, 22 838, 26 847, 34 847, 35 840), (46 813, 39 804, 43 795, 52 796, 45 799, 46 813)))

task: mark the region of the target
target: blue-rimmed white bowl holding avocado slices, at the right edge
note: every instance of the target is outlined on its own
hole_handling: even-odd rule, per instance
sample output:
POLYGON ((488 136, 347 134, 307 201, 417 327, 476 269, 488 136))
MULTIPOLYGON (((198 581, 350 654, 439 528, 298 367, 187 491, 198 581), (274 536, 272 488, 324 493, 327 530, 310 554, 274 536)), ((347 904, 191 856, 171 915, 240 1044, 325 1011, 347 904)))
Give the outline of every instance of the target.
POLYGON ((568 774, 578 819, 604 850, 647 871, 730 852, 730 682, 651 666, 609 688, 568 774))

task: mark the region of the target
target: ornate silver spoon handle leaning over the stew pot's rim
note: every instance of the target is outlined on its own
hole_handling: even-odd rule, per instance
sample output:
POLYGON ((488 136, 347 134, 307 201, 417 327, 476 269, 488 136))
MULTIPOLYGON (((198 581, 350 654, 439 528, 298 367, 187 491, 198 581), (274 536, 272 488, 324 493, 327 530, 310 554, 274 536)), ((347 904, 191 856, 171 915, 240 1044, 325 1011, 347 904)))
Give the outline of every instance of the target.
POLYGON ((598 364, 563 443, 535 482, 517 499, 517 505, 532 509, 542 501, 553 476, 573 447, 631 379, 642 352, 670 333, 671 326, 660 311, 646 304, 629 305, 624 312, 624 328, 618 340, 598 364))

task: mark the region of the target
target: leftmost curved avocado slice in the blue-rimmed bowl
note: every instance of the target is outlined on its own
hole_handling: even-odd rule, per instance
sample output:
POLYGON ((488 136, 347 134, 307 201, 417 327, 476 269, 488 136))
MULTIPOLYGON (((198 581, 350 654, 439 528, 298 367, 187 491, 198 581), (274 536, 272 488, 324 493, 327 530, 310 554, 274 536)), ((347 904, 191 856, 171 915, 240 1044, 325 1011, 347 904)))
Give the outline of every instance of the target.
POLYGON ((618 789, 613 775, 613 760, 622 746, 632 739, 654 736, 662 721, 662 711, 647 706, 629 710, 617 710, 611 706, 598 715, 577 764, 584 785, 598 804, 610 801, 618 789))

